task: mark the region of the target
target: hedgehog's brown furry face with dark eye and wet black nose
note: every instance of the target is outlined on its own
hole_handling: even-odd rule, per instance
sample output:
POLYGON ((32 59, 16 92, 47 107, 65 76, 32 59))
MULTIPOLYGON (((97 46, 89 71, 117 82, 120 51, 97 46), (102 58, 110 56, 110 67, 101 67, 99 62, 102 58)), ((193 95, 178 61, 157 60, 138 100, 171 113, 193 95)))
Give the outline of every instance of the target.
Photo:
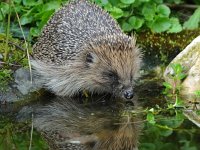
POLYGON ((134 81, 138 78, 140 69, 140 53, 137 47, 122 48, 104 45, 88 52, 85 55, 87 79, 94 87, 93 91, 132 99, 134 81))

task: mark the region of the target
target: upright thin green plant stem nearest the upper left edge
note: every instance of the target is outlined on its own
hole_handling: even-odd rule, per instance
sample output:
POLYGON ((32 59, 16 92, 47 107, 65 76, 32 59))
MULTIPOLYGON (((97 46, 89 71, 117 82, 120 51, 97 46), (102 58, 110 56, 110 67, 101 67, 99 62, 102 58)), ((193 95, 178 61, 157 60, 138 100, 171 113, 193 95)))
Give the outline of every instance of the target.
POLYGON ((8 48, 8 39, 10 34, 10 16, 11 16, 11 0, 9 0, 9 14, 8 14, 8 24, 6 28, 6 45, 4 52, 4 62, 8 60, 9 48, 8 48))

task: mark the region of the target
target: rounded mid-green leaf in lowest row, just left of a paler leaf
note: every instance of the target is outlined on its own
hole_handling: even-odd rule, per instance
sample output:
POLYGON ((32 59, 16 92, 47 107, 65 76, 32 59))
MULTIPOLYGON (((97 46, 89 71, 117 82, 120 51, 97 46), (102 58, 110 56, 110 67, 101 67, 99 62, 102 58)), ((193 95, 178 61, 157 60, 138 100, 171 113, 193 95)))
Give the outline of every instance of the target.
POLYGON ((171 22, 169 18, 164 17, 164 18, 157 18, 150 26, 151 30, 153 32, 164 32, 167 31, 171 26, 171 22))

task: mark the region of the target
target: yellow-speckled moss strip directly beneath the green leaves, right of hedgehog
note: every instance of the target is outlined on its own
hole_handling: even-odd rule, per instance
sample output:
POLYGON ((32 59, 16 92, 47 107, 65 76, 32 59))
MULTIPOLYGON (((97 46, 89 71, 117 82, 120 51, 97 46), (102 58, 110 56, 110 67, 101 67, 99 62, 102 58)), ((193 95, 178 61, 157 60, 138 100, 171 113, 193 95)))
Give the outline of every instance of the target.
POLYGON ((180 33, 152 33, 150 31, 137 34, 137 42, 142 48, 154 51, 174 52, 183 50, 195 37, 200 34, 196 30, 184 30, 180 33))

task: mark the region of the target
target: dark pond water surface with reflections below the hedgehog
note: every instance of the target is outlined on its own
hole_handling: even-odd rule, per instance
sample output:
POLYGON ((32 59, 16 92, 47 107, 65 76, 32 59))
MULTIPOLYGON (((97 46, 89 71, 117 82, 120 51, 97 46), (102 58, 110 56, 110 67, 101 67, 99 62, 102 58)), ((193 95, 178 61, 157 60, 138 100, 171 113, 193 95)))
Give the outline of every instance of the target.
POLYGON ((182 108, 167 109, 162 81, 144 82, 129 102, 52 95, 17 108, 1 105, 0 149, 199 150, 200 128, 182 108), (147 109, 154 108, 154 122, 147 109), (7 111, 6 111, 7 110, 7 111), (13 111, 11 111, 13 110, 13 111))

